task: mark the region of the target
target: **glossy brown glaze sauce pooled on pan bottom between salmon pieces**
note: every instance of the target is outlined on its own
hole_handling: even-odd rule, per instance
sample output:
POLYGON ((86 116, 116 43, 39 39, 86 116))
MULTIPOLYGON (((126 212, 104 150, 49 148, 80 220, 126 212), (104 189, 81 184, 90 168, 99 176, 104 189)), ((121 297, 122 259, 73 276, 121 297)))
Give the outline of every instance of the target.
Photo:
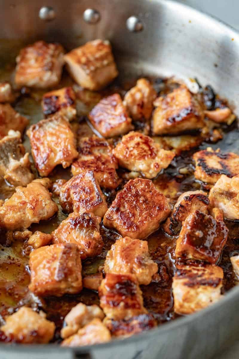
MULTIPOLYGON (((8 80, 11 69, 6 71, 0 71, 0 81, 8 80)), ((163 94, 168 89, 176 87, 177 85, 167 80, 150 78, 157 92, 163 94)), ((84 115, 90 111, 90 109, 99 101, 99 99, 105 95, 113 94, 115 92, 123 96, 129 88, 131 88, 136 82, 136 79, 120 81, 116 80, 109 88, 103 90, 100 94, 94 93, 88 90, 79 89, 78 99, 79 108, 82 109, 82 117, 78 117, 78 120, 72 123, 73 130, 79 130, 81 135, 91 135, 92 130, 85 122, 84 115)), ((71 79, 64 74, 61 83, 57 88, 64 86, 71 86, 71 79)), ((22 91, 22 94, 13 104, 16 111, 30 118, 30 122, 36 123, 43 118, 43 113, 40 107, 40 101, 42 95, 46 91, 22 91)), ((208 102, 208 108, 212 107, 211 100, 207 94, 204 95, 208 102)), ((209 96, 210 97, 210 96, 209 96)), ((219 100, 217 100, 219 101, 219 100)), ((136 130, 143 130, 145 133, 149 133, 150 126, 143 124, 142 122, 135 123, 136 130)), ((200 149, 206 148, 208 145, 212 145, 214 148, 220 147, 222 150, 235 151, 235 148, 239 148, 236 145, 236 139, 238 139, 238 130, 236 128, 236 121, 231 126, 224 126, 224 139, 218 141, 216 144, 209 144, 208 142, 202 142, 200 149), (234 146, 234 147, 233 147, 234 146)), ((118 139, 114 140, 115 143, 118 139)), ((24 146, 26 151, 30 152, 30 144, 27 136, 24 136, 24 146)), ((207 186, 193 177, 193 162, 191 155, 197 148, 190 151, 182 152, 177 155, 172 161, 171 165, 164 170, 163 173, 153 180, 156 187, 161 190, 168 198, 170 203, 175 204, 178 196, 185 191, 208 189, 207 186), (187 167, 187 172, 183 173, 181 169, 187 167)), ((33 166, 34 169, 34 166, 33 166)), ((35 170, 34 170, 35 171, 35 170)), ((34 172, 37 176, 36 171, 34 172)), ((123 177, 123 181, 119 188, 127 182, 125 180, 124 169, 118 170, 119 176, 123 177)), ((49 176, 51 180, 55 181, 59 178, 69 179, 71 177, 70 168, 63 169, 58 166, 53 170, 49 176)), ((5 182, 0 183, 0 199, 5 199, 13 194, 14 188, 9 187, 5 182)), ((104 192, 108 204, 113 201, 117 191, 104 192)), ((58 204, 58 198, 53 195, 53 199, 58 204)), ((58 204, 59 206, 59 204, 58 204)), ((34 232, 35 230, 41 230, 42 232, 50 233, 56 229, 59 223, 66 218, 63 214, 61 206, 59 206, 58 214, 47 222, 41 222, 39 224, 33 224, 29 230, 34 232)), ((235 253, 239 253, 239 221, 227 221, 227 227, 229 228, 229 237, 224 247, 219 265, 224 270, 224 286, 223 292, 228 291, 234 285, 237 284, 234 272, 230 263, 230 256, 235 253)), ((104 258, 107 251, 110 249, 111 244, 115 242, 120 236, 113 230, 109 230, 101 224, 101 234, 104 241, 104 248, 99 256, 92 259, 83 261, 83 276, 88 274, 95 274, 96 272, 103 271, 104 258)), ((57 330, 53 341, 59 342, 59 331, 63 324, 63 319, 70 309, 78 302, 83 302, 87 305, 99 304, 99 297, 97 292, 92 290, 83 289, 81 293, 77 295, 64 295, 63 297, 48 297, 48 298, 36 298, 28 291, 28 284, 30 281, 30 272, 28 267, 28 256, 31 248, 27 246, 26 241, 13 240, 12 243, 6 241, 5 234, 0 233, 0 324, 3 322, 4 317, 13 313, 18 307, 27 304, 34 308, 43 309, 47 313, 47 318, 56 323, 57 330)), ((163 233, 161 229, 151 234, 147 239, 149 252, 153 260, 158 264, 158 276, 147 286, 141 286, 144 296, 144 305, 150 313, 156 318, 159 325, 162 323, 173 320, 178 317, 173 312, 173 297, 172 297, 172 276, 175 272, 175 244, 176 238, 170 237, 163 233)), ((0 332, 0 341, 11 341, 11 338, 6 338, 3 333, 0 332)))

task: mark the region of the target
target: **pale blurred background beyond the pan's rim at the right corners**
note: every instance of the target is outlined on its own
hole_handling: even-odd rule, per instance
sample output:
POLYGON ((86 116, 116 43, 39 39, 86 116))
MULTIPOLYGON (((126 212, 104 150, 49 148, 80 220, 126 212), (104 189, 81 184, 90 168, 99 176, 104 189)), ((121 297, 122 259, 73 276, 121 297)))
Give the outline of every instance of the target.
MULTIPOLYGON (((211 14, 239 30, 239 0, 178 0, 178 2, 211 14)), ((239 328, 238 342, 215 359, 239 359, 239 328)))

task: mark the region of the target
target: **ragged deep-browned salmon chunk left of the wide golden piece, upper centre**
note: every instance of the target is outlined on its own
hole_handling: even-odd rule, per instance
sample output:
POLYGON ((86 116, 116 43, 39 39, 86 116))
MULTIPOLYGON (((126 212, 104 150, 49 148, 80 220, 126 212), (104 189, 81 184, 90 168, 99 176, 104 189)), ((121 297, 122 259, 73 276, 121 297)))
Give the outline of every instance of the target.
POLYGON ((95 135, 82 137, 79 141, 79 156, 71 165, 73 175, 94 171, 100 187, 114 190, 120 179, 116 172, 118 161, 112 153, 109 143, 95 135))

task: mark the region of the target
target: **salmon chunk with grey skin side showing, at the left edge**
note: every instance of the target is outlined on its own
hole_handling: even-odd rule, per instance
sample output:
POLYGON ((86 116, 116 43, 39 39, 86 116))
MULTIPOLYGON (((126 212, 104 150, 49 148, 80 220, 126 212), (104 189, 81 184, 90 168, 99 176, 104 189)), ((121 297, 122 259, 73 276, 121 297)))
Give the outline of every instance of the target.
POLYGON ((0 176, 12 186, 27 186, 34 180, 19 131, 10 130, 0 140, 0 176))

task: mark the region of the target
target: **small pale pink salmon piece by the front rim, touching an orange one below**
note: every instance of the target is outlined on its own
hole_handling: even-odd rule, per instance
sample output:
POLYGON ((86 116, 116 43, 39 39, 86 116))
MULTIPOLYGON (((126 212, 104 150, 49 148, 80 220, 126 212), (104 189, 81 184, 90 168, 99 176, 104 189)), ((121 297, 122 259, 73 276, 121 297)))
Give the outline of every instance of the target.
POLYGON ((83 303, 78 303, 65 317, 64 323, 66 325, 61 330, 61 337, 65 339, 75 334, 83 326, 89 324, 94 318, 103 320, 104 316, 103 311, 95 304, 86 306, 83 303))

